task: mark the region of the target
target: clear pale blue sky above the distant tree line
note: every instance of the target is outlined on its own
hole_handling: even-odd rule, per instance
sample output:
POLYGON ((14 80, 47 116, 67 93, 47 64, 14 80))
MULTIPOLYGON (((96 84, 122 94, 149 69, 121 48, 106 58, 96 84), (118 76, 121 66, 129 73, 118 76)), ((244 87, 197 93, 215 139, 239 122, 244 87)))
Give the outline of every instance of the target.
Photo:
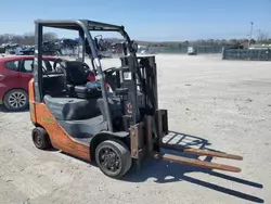
MULTIPOLYGON (((34 31, 34 21, 82 20, 124 25, 132 39, 179 41, 271 36, 271 0, 1 0, 0 34, 34 31)), ((75 38, 67 30, 48 29, 75 38)), ((117 37, 117 36, 113 36, 117 37)))

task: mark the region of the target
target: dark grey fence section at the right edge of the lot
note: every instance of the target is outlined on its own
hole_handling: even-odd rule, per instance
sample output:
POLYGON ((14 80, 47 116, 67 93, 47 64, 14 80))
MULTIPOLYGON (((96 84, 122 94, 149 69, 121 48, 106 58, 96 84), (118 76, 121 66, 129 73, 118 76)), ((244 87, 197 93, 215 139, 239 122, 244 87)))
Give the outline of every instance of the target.
POLYGON ((270 49, 224 49, 222 60, 271 61, 270 49))

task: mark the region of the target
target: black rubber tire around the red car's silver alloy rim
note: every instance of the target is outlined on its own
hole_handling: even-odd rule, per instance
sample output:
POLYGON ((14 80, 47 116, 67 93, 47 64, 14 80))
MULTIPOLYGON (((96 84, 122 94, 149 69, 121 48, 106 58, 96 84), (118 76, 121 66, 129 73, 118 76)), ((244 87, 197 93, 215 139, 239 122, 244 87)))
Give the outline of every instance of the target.
POLYGON ((3 104, 9 111, 13 111, 13 112, 23 111, 23 110, 27 109, 29 105, 28 93, 23 89, 12 89, 5 93, 5 95, 3 98, 3 104), (24 101, 25 101, 25 103, 18 107, 13 106, 10 102, 11 101, 10 98, 12 95, 15 95, 16 93, 23 95, 24 101))

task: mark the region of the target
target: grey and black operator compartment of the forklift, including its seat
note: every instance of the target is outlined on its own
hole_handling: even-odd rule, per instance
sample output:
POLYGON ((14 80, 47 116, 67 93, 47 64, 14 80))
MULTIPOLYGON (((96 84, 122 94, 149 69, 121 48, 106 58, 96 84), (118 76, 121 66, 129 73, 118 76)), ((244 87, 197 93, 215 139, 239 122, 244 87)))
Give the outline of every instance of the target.
MULTIPOLYGON (((64 74, 43 76, 43 101, 69 136, 89 142, 94 135, 107 130, 101 84, 88 81, 82 62, 65 61, 61 66, 64 74)), ((117 118, 121 118, 120 100, 111 95, 108 105, 117 127, 117 118)))

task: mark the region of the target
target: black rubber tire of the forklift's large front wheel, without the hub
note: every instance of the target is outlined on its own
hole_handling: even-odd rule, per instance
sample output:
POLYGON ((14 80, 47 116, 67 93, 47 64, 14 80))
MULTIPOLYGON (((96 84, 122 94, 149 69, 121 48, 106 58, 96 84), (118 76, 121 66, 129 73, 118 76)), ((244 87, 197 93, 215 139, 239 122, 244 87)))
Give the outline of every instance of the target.
POLYGON ((99 168, 102 170, 102 173, 111 178, 121 178, 124 175, 128 173, 128 170, 131 168, 132 160, 131 154, 127 145, 121 142, 120 140, 105 140, 101 142, 96 149, 95 149, 95 162, 99 166, 99 168), (108 169, 104 168, 103 165, 100 163, 100 151, 104 148, 112 149, 117 156, 120 158, 120 169, 116 173, 112 173, 108 169))

